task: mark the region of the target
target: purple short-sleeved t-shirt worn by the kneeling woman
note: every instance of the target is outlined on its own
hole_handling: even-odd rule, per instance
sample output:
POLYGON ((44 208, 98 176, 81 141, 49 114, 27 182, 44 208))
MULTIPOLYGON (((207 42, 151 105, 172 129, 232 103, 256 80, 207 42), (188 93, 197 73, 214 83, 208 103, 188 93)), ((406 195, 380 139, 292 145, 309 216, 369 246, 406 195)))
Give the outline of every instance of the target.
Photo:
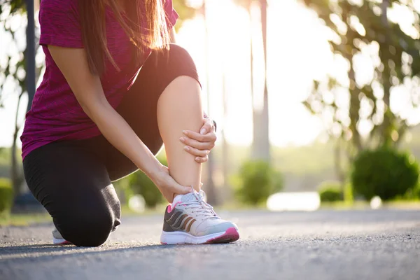
MULTIPOLYGON (((45 144, 57 140, 87 139, 101 132, 78 104, 69 83, 52 59, 47 45, 83 48, 78 0, 43 0, 39 10, 41 25, 40 44, 45 53, 45 74, 36 90, 31 110, 27 113, 22 140, 22 158, 45 144)), ((142 3, 144 5, 144 3, 142 3)), ((165 1, 168 27, 173 27, 178 14, 172 0, 165 1)), ((101 77, 106 99, 115 109, 124 93, 132 85, 134 76, 144 63, 150 50, 141 61, 133 62, 134 45, 118 24, 111 9, 106 10, 106 39, 109 52, 121 71, 106 61, 106 71, 101 77)))

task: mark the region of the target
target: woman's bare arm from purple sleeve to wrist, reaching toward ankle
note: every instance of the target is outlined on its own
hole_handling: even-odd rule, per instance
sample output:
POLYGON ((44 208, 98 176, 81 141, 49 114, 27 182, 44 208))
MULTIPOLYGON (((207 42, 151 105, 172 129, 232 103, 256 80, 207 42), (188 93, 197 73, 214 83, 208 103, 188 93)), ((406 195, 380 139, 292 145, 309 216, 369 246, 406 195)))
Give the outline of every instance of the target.
POLYGON ((99 76, 90 72, 85 50, 52 45, 48 49, 83 111, 104 137, 149 177, 160 171, 160 162, 109 104, 99 76))

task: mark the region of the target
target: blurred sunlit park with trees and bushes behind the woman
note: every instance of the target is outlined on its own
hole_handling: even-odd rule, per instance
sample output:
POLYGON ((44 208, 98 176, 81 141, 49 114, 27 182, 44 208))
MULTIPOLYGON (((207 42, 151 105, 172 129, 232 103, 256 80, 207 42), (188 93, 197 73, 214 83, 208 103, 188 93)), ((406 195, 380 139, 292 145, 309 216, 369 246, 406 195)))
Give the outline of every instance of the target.
MULTIPOLYGON (((25 184, 19 137, 44 55, 38 1, 0 3, 0 212, 10 221, 43 213, 25 184)), ((174 7, 177 41, 218 124, 204 165, 208 202, 272 211, 420 204, 420 1, 174 7)), ((158 158, 165 163, 164 152, 158 158)), ((142 172, 115 186, 127 213, 165 204, 142 172)))

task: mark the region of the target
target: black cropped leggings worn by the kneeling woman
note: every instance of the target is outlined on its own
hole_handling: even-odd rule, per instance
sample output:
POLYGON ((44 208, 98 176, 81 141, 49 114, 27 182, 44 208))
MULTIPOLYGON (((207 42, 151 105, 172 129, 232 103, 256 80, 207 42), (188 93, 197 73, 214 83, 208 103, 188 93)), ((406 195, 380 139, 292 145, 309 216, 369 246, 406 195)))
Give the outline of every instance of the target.
MULTIPOLYGON (((179 76, 198 80, 186 50, 172 44, 169 51, 153 51, 117 109, 154 154, 162 147, 158 99, 179 76)), ((37 148, 27 155, 23 168, 31 193, 62 237, 76 246, 99 246, 116 230, 121 210, 111 181, 137 171, 102 135, 37 148)))

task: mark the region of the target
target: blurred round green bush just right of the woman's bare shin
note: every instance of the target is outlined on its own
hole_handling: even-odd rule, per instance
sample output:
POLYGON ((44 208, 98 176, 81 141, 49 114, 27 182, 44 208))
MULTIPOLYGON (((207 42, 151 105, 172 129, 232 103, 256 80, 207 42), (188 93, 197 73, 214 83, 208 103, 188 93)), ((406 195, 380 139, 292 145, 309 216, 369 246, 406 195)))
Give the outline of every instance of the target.
POLYGON ((245 162, 236 176, 236 195, 246 204, 260 204, 283 189, 283 177, 268 162, 245 162))

